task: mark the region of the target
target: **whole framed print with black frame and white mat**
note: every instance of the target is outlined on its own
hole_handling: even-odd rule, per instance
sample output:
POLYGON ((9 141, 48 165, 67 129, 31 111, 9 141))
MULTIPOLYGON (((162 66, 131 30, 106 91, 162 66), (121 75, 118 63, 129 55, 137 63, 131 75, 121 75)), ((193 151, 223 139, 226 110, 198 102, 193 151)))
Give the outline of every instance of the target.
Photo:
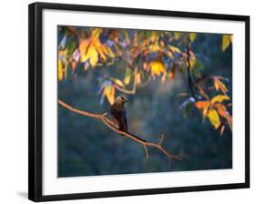
POLYGON ((250 17, 29 5, 29 199, 250 186, 250 17))

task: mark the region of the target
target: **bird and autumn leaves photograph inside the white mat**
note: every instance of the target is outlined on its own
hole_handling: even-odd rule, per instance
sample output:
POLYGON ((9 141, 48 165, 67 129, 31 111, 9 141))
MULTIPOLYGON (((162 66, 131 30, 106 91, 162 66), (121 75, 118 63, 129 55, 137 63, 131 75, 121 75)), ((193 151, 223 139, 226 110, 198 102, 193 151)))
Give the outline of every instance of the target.
POLYGON ((231 33, 56 36, 58 178, 233 167, 231 33))

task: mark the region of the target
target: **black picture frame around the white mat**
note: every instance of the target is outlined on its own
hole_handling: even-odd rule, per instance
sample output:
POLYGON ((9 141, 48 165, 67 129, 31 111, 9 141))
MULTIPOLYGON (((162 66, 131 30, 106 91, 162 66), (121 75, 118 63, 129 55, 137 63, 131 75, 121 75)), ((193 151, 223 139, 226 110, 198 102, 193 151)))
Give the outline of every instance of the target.
POLYGON ((242 189, 250 187, 250 16, 219 15, 191 12, 148 10, 93 5, 67 5, 34 3, 28 6, 28 66, 29 66, 29 141, 28 141, 28 199, 34 201, 92 199, 133 195, 175 193, 187 191, 242 189), (128 15, 160 15, 198 19, 230 20, 245 22, 245 182, 221 185, 189 186, 161 189, 132 189, 63 195, 42 195, 42 12, 44 9, 91 11, 128 15))

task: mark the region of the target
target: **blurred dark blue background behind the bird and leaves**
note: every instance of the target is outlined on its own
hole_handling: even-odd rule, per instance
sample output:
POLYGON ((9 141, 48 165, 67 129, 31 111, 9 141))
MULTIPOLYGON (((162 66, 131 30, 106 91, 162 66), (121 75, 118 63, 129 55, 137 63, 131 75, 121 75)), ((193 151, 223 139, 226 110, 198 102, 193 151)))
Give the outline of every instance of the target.
MULTIPOLYGON (((198 34, 191 50, 204 65, 204 73, 230 79, 226 85, 231 97, 232 46, 222 52, 220 45, 221 35, 198 34)), ((109 70, 116 76, 123 76, 125 67, 101 66, 81 71, 76 79, 58 83, 58 98, 88 112, 109 113, 107 99, 100 105, 100 95, 97 94, 97 77, 109 70)), ((149 158, 146 158, 144 148, 135 141, 119 136, 95 118, 58 106, 58 176, 232 168, 230 129, 226 128, 220 136, 220 130, 214 130, 209 120, 203 122, 196 109, 184 117, 179 109, 184 98, 177 95, 186 91, 186 73, 178 73, 173 82, 161 83, 156 79, 147 87, 138 87, 136 95, 121 94, 128 98, 130 132, 152 142, 159 142, 164 133, 163 147, 183 158, 172 160, 170 169, 168 158, 158 149, 148 148, 149 158)))

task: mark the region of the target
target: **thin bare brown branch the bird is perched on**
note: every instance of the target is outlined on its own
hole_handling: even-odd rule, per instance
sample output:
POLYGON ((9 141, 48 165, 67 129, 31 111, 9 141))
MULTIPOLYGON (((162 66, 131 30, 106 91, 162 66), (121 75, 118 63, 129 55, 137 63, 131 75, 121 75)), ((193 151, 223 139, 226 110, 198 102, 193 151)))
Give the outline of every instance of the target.
POLYGON ((161 142, 162 142, 162 138, 159 142, 159 144, 157 143, 153 143, 153 142, 147 142, 146 140, 139 138, 129 132, 124 132, 124 131, 120 131, 118 129, 118 125, 115 124, 113 121, 111 121, 110 119, 108 119, 108 117, 106 117, 107 113, 103 113, 103 114, 93 114, 93 113, 89 113, 87 111, 84 110, 79 110, 75 107, 71 107, 69 106, 67 103, 63 102, 62 100, 58 99, 58 104, 61 105, 62 107, 67 108, 68 110, 83 115, 83 116, 87 116, 87 117, 94 117, 97 118, 99 120, 102 121, 103 124, 105 124, 108 128, 110 128, 111 130, 113 130, 114 132, 118 133, 121 136, 125 136, 128 138, 133 139, 134 141, 138 142, 139 144, 141 144, 145 151, 146 151, 146 157, 148 158, 148 148, 147 147, 153 147, 153 148, 158 148, 159 151, 161 151, 165 156, 167 156, 169 159, 170 158, 174 158, 174 159, 179 159, 181 160, 181 158, 179 156, 173 155, 171 153, 169 153, 168 150, 166 150, 165 148, 163 148, 161 146, 161 142))

